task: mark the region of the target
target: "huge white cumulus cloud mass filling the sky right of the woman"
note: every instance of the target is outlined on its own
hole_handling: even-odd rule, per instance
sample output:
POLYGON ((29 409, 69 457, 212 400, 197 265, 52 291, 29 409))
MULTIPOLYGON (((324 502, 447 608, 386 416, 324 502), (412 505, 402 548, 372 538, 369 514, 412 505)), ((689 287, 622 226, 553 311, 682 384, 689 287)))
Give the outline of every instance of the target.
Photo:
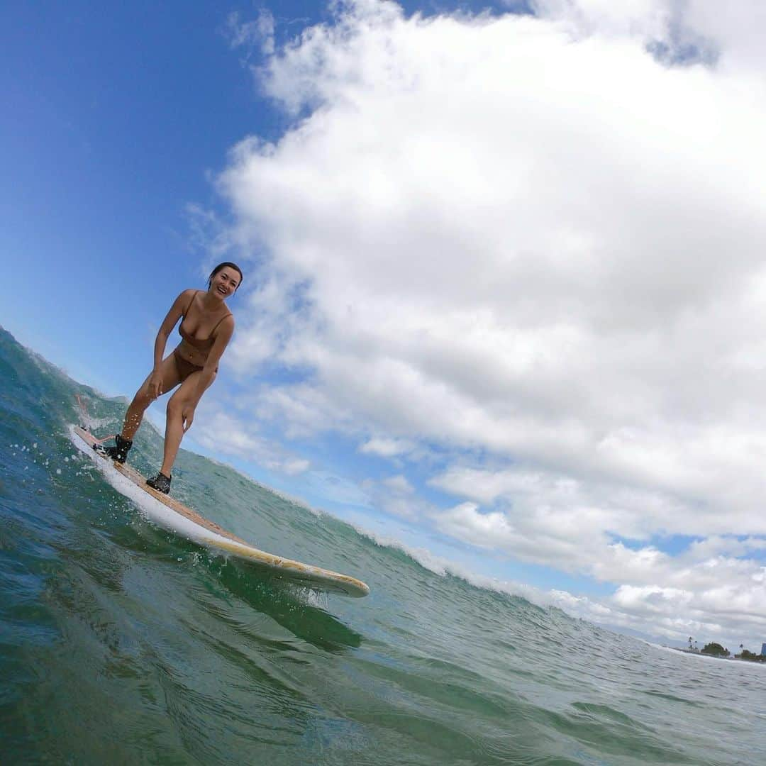
POLYGON ((219 178, 266 256, 233 362, 300 373, 264 417, 435 445, 434 525, 638 588, 620 607, 755 620, 752 548, 649 541, 766 534, 764 11, 336 9, 259 70, 293 125, 219 178))

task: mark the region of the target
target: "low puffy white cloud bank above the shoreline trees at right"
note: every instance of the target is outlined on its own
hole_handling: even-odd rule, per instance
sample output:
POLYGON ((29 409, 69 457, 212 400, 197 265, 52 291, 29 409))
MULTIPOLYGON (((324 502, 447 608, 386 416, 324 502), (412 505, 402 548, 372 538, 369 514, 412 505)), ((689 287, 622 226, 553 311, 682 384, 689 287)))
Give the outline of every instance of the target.
POLYGON ((651 545, 633 549, 614 542, 598 512, 576 502, 551 507, 522 500, 520 506, 482 513, 466 502, 438 512, 435 520, 441 531, 473 545, 621 583, 614 597, 601 602, 554 602, 588 619, 676 641, 692 633, 752 646, 766 630, 766 566, 747 558, 764 549, 763 539, 712 537, 669 555, 651 545))

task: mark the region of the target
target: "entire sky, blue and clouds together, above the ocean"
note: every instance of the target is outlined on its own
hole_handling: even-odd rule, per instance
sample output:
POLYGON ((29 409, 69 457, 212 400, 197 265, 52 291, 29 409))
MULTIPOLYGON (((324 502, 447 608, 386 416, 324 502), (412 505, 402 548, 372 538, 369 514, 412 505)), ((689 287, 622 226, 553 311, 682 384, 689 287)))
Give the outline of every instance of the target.
POLYGON ((711 9, 6 4, 0 322, 130 395, 237 260, 186 446, 575 614, 755 641, 764 62, 711 9))

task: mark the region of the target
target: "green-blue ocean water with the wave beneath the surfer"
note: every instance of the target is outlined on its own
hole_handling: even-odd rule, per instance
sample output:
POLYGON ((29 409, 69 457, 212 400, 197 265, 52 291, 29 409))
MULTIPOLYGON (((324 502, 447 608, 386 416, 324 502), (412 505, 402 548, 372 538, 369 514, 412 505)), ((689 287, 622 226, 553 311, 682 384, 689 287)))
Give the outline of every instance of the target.
MULTIPOLYGON (((429 568, 182 450, 174 495, 364 580, 296 590, 147 521, 70 440, 125 403, 0 330, 3 764, 766 764, 766 666, 429 568)), ((162 440, 144 424, 131 461, 162 440)))

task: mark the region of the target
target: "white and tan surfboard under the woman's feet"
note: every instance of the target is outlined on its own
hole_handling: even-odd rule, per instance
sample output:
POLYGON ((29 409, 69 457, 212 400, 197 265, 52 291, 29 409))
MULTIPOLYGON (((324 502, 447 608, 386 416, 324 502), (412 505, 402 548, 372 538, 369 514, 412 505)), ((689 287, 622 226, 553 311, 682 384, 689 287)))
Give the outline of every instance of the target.
POLYGON ((187 508, 178 500, 157 492, 146 483, 146 478, 133 466, 117 463, 103 457, 93 450, 93 444, 99 440, 80 426, 71 427, 72 441, 83 453, 92 457, 110 484, 129 499, 136 499, 136 487, 145 494, 139 496, 139 508, 155 524, 177 535, 204 545, 211 550, 248 561, 251 564, 267 568, 273 575, 296 582, 306 588, 337 593, 343 596, 366 596, 370 589, 361 580, 349 575, 341 575, 322 567, 303 564, 290 558, 273 555, 254 548, 253 545, 228 532, 210 519, 205 519, 198 512, 187 508))

